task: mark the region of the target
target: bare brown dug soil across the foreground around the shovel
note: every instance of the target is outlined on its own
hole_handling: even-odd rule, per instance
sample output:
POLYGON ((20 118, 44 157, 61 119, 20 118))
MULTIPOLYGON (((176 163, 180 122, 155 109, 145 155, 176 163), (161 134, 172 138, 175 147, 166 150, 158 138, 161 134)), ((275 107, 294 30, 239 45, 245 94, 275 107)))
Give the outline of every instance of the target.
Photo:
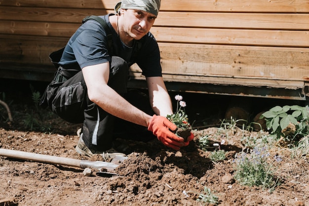
MULTIPOLYGON (((83 159, 74 150, 75 135, 2 128, 0 140, 1 148, 5 149, 83 159)), ((287 171, 281 173, 284 181, 270 193, 235 182, 232 178, 232 151, 227 160, 214 164, 208 158, 209 152, 197 149, 195 142, 177 152, 168 150, 157 141, 127 144, 134 152, 116 168, 119 175, 112 177, 96 175, 95 170, 91 176, 83 176, 80 168, 1 157, 0 200, 10 198, 21 206, 200 206, 202 204, 196 199, 206 186, 219 197, 219 205, 309 204, 309 186, 302 183, 304 173, 300 169, 288 168, 295 166, 292 163, 283 163, 288 164, 287 171)))

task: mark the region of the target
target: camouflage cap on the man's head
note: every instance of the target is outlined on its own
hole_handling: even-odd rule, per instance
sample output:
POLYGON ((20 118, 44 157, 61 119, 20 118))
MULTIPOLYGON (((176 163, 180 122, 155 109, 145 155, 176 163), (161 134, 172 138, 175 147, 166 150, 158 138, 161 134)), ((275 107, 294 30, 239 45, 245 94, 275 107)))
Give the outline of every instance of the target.
POLYGON ((160 0, 121 0, 116 4, 115 12, 118 13, 120 8, 139 9, 157 16, 160 4, 160 0))

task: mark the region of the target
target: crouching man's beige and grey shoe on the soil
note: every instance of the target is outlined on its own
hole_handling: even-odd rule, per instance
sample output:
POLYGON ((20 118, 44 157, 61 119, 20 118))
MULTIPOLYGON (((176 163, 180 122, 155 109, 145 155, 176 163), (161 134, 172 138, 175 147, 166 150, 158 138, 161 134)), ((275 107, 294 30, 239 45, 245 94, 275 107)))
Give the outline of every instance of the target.
POLYGON ((92 157, 94 154, 99 154, 103 157, 104 160, 111 158, 112 160, 116 156, 125 157, 126 155, 120 152, 117 152, 114 148, 111 148, 107 151, 100 152, 100 151, 91 151, 84 143, 82 139, 82 133, 80 134, 79 140, 77 142, 77 146, 75 147, 77 153, 81 155, 85 155, 88 157, 92 157))

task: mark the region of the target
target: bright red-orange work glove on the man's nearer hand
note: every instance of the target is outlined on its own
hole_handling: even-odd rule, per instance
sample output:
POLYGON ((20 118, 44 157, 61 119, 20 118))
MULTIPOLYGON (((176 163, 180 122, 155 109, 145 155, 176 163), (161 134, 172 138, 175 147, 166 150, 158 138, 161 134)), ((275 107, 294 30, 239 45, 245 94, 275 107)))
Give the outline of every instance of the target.
POLYGON ((160 140, 164 145, 175 150, 179 150, 180 147, 185 145, 184 139, 182 137, 178 137, 169 129, 174 131, 177 129, 177 126, 163 116, 154 115, 148 126, 148 130, 152 131, 158 140, 160 140))

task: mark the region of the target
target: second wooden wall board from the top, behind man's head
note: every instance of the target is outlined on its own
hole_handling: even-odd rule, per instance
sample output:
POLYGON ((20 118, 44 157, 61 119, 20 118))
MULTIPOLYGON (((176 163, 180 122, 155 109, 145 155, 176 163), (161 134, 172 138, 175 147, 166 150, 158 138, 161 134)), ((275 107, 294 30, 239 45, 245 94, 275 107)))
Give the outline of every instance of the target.
MULTIPOLYGON (((113 13, 106 9, 71 9, 3 6, 1 20, 77 23, 87 15, 113 13)), ((270 30, 309 30, 309 14, 297 13, 219 13, 219 12, 160 12, 154 26, 192 28, 234 28, 270 30), (168 19, 168 20, 167 20, 168 19), (202 21, 201 21, 202 20, 202 21), (292 21, 291 21, 292 20, 292 21)))

